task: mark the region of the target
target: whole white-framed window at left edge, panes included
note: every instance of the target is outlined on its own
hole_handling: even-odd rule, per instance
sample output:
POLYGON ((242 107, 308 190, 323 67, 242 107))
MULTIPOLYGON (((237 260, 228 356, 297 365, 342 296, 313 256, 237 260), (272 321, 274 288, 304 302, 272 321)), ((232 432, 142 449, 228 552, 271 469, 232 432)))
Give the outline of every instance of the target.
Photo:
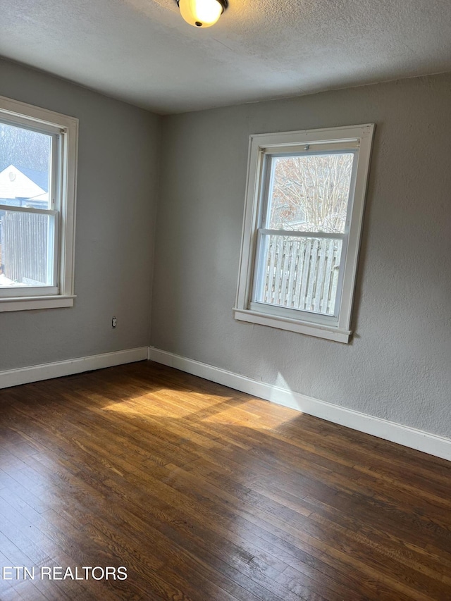
POLYGON ((72 306, 78 120, 0 97, 0 311, 72 306))

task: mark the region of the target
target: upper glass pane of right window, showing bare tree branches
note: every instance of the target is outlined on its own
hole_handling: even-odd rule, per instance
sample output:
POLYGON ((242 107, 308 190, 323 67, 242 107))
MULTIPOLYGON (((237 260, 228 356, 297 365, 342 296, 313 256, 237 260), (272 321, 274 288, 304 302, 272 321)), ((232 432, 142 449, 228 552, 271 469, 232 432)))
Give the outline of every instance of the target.
POLYGON ((273 156, 266 228, 343 233, 354 153, 273 156))

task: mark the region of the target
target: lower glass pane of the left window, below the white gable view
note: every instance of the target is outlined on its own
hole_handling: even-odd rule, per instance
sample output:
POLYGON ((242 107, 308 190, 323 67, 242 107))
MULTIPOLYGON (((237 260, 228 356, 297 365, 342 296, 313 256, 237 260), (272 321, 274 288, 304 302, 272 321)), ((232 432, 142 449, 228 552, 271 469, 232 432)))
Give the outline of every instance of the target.
POLYGON ((0 288, 53 285, 54 216, 0 211, 0 288))

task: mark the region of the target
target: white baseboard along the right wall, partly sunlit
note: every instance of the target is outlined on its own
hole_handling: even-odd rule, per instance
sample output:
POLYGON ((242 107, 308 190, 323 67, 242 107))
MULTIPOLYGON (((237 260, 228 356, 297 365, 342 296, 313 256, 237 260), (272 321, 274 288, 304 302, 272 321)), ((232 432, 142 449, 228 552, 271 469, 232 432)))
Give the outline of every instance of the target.
POLYGON ((435 455, 435 457, 451 460, 451 440, 449 438, 437 436, 423 430, 416 430, 416 428, 409 428, 409 426, 402 426, 400 423, 380 419, 353 409, 346 409, 339 405, 301 395, 299 392, 292 392, 285 388, 257 382, 257 380, 240 376, 237 373, 186 357, 180 357, 154 347, 149 347, 149 359, 229 388, 247 392, 247 394, 254 397, 297 409, 333 423, 340 423, 342 426, 347 426, 347 428, 359 430, 359 432, 371 434, 391 442, 397 442, 398 445, 435 455))

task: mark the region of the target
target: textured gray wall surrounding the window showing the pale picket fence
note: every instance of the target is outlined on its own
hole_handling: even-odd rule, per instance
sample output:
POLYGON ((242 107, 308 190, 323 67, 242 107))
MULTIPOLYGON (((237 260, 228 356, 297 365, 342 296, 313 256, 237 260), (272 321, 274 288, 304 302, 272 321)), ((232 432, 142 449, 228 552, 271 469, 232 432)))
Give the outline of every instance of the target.
POLYGON ((451 435, 451 76, 163 120, 152 345, 451 435), (232 318, 249 134, 376 123, 354 340, 232 318))

